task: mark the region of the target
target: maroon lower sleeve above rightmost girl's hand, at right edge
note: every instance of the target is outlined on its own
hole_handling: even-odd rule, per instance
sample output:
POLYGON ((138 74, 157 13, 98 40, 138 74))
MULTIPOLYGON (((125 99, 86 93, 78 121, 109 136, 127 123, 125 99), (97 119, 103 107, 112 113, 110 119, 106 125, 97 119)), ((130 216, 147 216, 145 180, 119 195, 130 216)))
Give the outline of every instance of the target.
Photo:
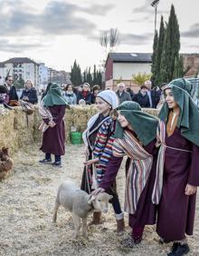
POLYGON ((193 145, 192 163, 189 171, 188 184, 199 186, 199 147, 193 145))

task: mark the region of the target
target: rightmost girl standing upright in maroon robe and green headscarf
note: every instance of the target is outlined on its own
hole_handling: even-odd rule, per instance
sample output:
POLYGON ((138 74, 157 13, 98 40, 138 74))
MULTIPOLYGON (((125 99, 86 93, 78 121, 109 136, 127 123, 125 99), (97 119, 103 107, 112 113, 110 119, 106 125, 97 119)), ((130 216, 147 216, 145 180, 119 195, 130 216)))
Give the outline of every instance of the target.
POLYGON ((199 185, 199 112, 189 93, 191 84, 177 79, 166 86, 159 113, 153 202, 158 204, 156 231, 161 242, 173 241, 168 255, 188 253, 185 234, 194 230, 196 188, 199 185))

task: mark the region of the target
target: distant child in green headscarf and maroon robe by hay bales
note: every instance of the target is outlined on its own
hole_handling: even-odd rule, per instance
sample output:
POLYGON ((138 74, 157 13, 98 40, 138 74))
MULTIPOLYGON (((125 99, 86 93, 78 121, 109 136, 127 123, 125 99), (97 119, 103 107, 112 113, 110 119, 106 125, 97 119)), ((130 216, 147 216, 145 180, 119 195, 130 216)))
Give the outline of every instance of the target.
POLYGON ((51 163, 54 154, 53 166, 62 166, 61 156, 65 154, 65 128, 63 117, 67 103, 62 97, 62 88, 58 84, 51 84, 47 94, 43 97, 44 108, 50 111, 52 118, 43 121, 48 129, 43 133, 43 144, 40 148, 45 153, 42 163, 51 163))

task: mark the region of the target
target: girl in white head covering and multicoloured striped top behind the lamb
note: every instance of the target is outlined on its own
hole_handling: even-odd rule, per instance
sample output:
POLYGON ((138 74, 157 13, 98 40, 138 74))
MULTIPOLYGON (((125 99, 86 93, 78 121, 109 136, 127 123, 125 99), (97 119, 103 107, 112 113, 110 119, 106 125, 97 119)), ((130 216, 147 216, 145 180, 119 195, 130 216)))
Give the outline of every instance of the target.
MULTIPOLYGON (((99 113, 90 118, 87 130, 83 133, 88 155, 82 175, 81 189, 89 193, 99 187, 111 157, 115 123, 109 113, 118 106, 118 97, 112 91, 103 91, 96 97, 96 106, 99 113)), ((110 202, 116 214, 117 231, 124 231, 124 214, 118 201, 115 181, 110 184, 108 192, 113 196, 110 202)), ((90 224, 99 223, 100 212, 94 212, 93 221, 90 224)))

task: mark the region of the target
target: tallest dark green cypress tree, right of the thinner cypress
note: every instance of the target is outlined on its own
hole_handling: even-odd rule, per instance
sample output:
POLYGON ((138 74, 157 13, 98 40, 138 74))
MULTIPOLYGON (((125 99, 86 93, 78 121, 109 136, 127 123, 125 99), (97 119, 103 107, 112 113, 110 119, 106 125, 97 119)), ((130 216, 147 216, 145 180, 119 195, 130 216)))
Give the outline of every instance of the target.
POLYGON ((175 7, 171 5, 160 64, 160 83, 168 83, 175 77, 175 62, 179 58, 180 32, 175 7))

